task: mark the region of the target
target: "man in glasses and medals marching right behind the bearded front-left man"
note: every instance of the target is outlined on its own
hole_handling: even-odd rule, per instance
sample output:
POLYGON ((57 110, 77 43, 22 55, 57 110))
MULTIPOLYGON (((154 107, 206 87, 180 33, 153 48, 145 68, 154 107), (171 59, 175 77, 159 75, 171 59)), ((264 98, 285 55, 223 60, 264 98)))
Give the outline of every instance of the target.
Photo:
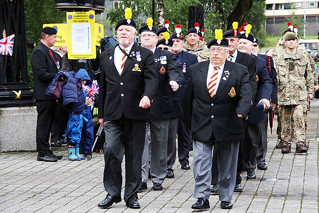
MULTIPOLYGON (((150 146, 152 189, 160 191, 163 189, 162 183, 166 177, 169 119, 175 117, 170 91, 176 91, 179 88, 179 71, 174 55, 156 47, 158 42, 156 31, 154 26, 146 25, 139 30, 139 33, 141 35, 141 45, 154 53, 156 73, 159 79, 148 116, 152 143, 150 146)), ((148 161, 149 144, 146 141, 142 156, 142 184, 147 183, 148 161)))

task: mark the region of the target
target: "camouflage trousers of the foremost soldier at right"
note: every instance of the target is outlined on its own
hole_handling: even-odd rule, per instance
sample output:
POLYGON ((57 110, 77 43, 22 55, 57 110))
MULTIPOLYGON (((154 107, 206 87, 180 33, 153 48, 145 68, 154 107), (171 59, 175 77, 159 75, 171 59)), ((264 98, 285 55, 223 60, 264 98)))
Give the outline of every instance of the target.
POLYGON ((290 145, 292 138, 296 145, 305 144, 307 105, 278 106, 281 123, 281 139, 284 145, 290 145))

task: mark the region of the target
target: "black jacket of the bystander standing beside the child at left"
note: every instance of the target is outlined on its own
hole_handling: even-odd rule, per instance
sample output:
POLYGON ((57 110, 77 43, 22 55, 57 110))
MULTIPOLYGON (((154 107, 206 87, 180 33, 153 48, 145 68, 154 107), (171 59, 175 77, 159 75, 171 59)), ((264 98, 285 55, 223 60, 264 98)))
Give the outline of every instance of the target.
MULTIPOLYGON (((55 61, 58 57, 53 50, 55 61)), ((45 90, 52 79, 58 73, 56 63, 49 53, 49 48, 40 42, 31 54, 31 66, 33 73, 33 98, 36 100, 55 100, 54 97, 46 95, 45 90)), ((61 64, 61 61, 59 61, 61 64)))

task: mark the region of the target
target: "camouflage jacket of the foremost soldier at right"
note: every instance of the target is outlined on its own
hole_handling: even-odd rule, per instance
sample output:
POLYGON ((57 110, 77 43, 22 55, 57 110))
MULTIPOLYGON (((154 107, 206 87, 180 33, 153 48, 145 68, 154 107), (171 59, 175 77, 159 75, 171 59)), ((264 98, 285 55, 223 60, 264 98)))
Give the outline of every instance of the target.
POLYGON ((307 104, 308 94, 313 94, 314 75, 308 56, 298 51, 292 58, 286 52, 274 62, 278 79, 278 105, 307 104))

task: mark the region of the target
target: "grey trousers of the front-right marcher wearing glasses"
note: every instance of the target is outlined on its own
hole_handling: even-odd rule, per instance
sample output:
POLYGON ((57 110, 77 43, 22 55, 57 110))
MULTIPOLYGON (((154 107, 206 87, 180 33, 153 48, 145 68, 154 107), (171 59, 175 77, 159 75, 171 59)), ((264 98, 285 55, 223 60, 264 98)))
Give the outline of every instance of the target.
POLYGON ((209 199, 213 146, 217 151, 219 200, 230 202, 236 182, 239 141, 193 141, 193 197, 209 199))

